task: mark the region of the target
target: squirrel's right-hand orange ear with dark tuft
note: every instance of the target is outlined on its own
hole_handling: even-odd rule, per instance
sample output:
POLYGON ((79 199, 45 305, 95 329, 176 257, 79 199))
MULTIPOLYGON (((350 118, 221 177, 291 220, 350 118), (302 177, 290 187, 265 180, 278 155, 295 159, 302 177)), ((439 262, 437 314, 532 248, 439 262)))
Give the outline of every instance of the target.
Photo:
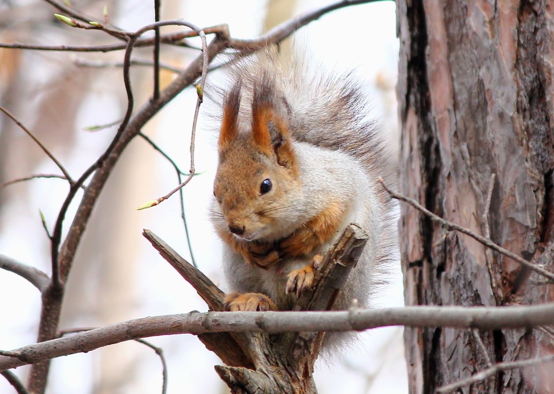
POLYGON ((252 137, 266 155, 275 154, 281 166, 293 167, 294 152, 290 144, 288 124, 278 115, 273 83, 264 76, 255 86, 252 100, 252 137))

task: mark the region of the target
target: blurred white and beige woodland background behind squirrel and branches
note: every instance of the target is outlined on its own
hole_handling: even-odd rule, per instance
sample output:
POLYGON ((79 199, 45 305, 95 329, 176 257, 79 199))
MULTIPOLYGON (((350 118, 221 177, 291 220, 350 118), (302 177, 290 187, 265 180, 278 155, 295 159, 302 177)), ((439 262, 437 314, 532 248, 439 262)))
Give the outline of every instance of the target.
MULTIPOLYGON (((274 25, 328 2, 315 0, 164 0, 162 19, 182 18, 199 27, 227 23, 234 38, 254 38, 274 25)), ((126 30, 153 22, 151 2, 139 0, 72 1, 80 11, 102 21, 107 6, 110 21, 126 30)), ((396 155, 398 134, 394 85, 398 40, 394 2, 338 9, 297 32, 288 50, 332 72, 355 69, 372 100, 372 117, 391 140, 396 155), (290 49, 292 48, 292 49, 290 49), (336 70, 336 71, 335 71, 336 70)), ((0 42, 43 45, 116 43, 107 34, 79 30, 60 23, 47 2, 0 1, 0 42)), ((167 27, 162 33, 178 31, 167 27)), ((209 37, 208 37, 209 39, 209 37)), ((191 39, 192 45, 199 41, 191 39)), ((136 59, 150 59, 151 50, 135 50, 136 59)), ((184 68, 197 50, 162 47, 163 63, 184 68)), ((0 48, 0 105, 30 129, 76 178, 103 152, 116 126, 94 126, 122 119, 126 108, 121 78, 123 52, 77 53, 0 48)), ((217 78, 224 80, 218 71, 217 78)), ((152 70, 132 68, 136 108, 152 92, 152 70)), ((214 73, 217 74, 217 73, 214 73)), ((162 87, 175 74, 162 72, 162 87)), ((189 139, 196 91, 184 90, 143 133, 171 156, 183 171, 189 167, 189 139)), ((217 165, 214 125, 201 107, 197 129, 196 168, 201 175, 184 189, 192 254, 214 282, 222 281, 220 244, 208 220, 208 204, 217 165)), ((0 114, 0 183, 37 173, 59 173, 39 147, 11 120, 0 114)), ((148 315, 206 311, 207 306, 141 235, 151 229, 191 261, 181 220, 178 195, 160 206, 136 211, 150 199, 178 184, 170 163, 146 141, 136 138, 109 179, 80 244, 69 277, 60 329, 104 326, 148 315)), ((59 179, 35 179, 0 190, 0 253, 49 273, 47 226, 54 226, 68 192, 59 179)), ((78 200, 78 198, 77 198, 78 200)), ((70 209, 67 227, 75 207, 70 209)), ((399 263, 391 267, 390 284, 376 306, 403 305, 399 263)), ((35 341, 40 313, 37 289, 17 275, 0 270, 0 349, 11 350, 35 341)), ((213 366, 220 361, 192 335, 149 339, 162 347, 168 363, 168 393, 225 393, 213 366)), ((315 379, 325 393, 407 392, 402 328, 365 332, 361 343, 332 361, 319 361, 315 379)), ((27 367, 15 371, 25 380, 27 367)), ((161 392, 162 367, 152 349, 126 342, 53 361, 49 393, 161 392)), ((0 378, 0 393, 14 392, 0 378)))

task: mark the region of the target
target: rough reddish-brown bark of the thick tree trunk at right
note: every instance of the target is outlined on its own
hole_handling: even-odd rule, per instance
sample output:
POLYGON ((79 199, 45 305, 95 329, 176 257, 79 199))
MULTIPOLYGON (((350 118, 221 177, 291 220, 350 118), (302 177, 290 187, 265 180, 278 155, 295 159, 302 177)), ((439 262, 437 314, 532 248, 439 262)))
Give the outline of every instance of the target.
MULTIPOLYGON (((554 3, 398 0, 397 7, 404 194, 483 234, 495 173, 490 237, 525 259, 538 258, 554 229, 554 3)), ((403 207, 402 221, 407 305, 554 299, 553 285, 537 284, 542 278, 473 239, 412 208, 403 207)), ((552 258, 544 260, 552 272, 552 258)), ((492 362, 553 351, 538 330, 480 336, 492 362)), ((468 330, 406 328, 405 340, 413 393, 432 393, 486 367, 468 330)), ((543 372, 505 371, 459 392, 546 393, 553 382, 543 372)))

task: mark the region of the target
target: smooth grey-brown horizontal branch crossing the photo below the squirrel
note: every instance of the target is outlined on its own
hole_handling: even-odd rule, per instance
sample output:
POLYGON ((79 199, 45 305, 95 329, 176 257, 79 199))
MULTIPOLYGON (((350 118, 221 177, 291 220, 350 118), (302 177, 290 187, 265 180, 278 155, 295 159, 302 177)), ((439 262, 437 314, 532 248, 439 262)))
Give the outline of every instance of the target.
POLYGON ((404 325, 475 327, 484 330, 554 324, 554 303, 529 306, 406 306, 349 311, 206 312, 153 316, 13 350, 0 356, 0 371, 54 357, 88 352, 119 342, 159 335, 206 332, 361 331, 404 325))

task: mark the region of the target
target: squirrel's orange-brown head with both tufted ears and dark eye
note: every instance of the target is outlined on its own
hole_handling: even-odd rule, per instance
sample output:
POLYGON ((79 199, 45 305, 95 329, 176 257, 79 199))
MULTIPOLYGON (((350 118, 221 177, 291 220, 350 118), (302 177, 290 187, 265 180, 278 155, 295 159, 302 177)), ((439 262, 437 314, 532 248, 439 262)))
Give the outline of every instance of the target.
POLYGON ((229 232, 246 241, 272 239, 293 218, 299 192, 288 125, 276 108, 273 84, 254 87, 252 122, 239 126, 240 84, 224 102, 214 196, 229 232))

